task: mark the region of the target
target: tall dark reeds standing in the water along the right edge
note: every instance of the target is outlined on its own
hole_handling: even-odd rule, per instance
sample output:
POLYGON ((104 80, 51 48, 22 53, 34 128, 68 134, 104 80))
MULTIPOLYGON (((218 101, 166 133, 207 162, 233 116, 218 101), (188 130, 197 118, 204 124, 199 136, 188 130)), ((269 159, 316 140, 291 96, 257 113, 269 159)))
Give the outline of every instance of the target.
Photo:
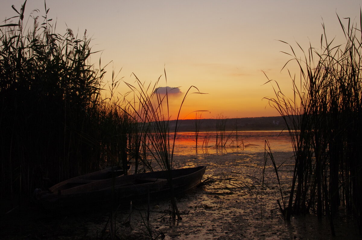
POLYGON ((294 98, 278 86, 276 97, 269 98, 287 124, 295 151, 286 218, 326 214, 332 234, 339 209, 352 213, 362 230, 362 20, 348 20, 348 28, 340 24, 346 44, 332 47, 324 32, 321 52, 310 47, 301 60, 292 49, 301 71, 300 83, 292 78, 294 98))

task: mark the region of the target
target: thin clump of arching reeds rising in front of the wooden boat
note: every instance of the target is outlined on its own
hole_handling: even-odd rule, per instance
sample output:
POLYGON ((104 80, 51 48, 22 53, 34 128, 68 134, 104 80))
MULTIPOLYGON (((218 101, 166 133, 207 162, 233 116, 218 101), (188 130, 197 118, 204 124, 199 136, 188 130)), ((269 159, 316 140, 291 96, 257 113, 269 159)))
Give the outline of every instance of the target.
MULTIPOLYGON (((136 78, 137 85, 135 85, 135 87, 126 83, 130 88, 130 92, 126 94, 125 99, 127 96, 132 96, 132 101, 128 101, 127 108, 124 109, 124 111, 127 112, 129 116, 133 117, 134 121, 143 126, 142 132, 145 134, 143 140, 148 141, 147 144, 145 144, 148 152, 156 160, 161 170, 164 170, 167 173, 167 180, 171 189, 172 218, 176 219, 177 216, 177 219, 181 220, 182 218, 177 208, 172 187, 172 164, 175 140, 179 127, 178 120, 186 97, 190 94, 203 93, 199 92, 199 90, 194 86, 191 86, 188 89, 178 111, 175 129, 171 131, 169 124, 170 114, 168 90, 166 88, 165 94, 158 91, 158 84, 161 76, 152 86, 151 83, 148 85, 142 83, 135 74, 133 75, 136 78), (190 92, 192 89, 196 89, 196 92, 190 92)), ((165 82, 167 84, 166 71, 165 82)), ((151 167, 151 164, 149 166, 151 167)), ((152 170, 152 168, 150 168, 150 170, 152 170)))

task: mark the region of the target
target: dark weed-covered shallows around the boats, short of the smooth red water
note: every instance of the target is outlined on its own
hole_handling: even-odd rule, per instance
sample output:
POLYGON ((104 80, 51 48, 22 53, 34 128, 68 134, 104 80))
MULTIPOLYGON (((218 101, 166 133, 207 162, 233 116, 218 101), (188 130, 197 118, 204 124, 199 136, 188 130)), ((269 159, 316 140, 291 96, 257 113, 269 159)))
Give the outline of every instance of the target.
MULTIPOLYGON (((289 194, 292 152, 273 153, 279 169, 282 194, 289 194)), ((206 165, 205 177, 221 172, 240 173, 244 188, 231 187, 232 193, 215 187, 203 187, 178 196, 182 220, 169 218, 168 199, 151 199, 150 221, 147 204, 132 203, 117 212, 115 228, 120 239, 332 239, 327 218, 294 216, 285 222, 277 199, 281 191, 271 162, 267 162, 264 189, 259 182, 264 167, 264 153, 253 151, 174 157, 174 168, 206 165), (130 220, 130 221, 129 221, 130 220), (129 221, 129 224, 124 224, 129 221), (148 228, 146 227, 148 225, 148 228)), ((0 236, 5 239, 106 239, 110 233, 109 207, 86 212, 59 214, 20 208, 1 218, 0 236)), ((352 218, 340 212, 334 239, 358 239, 352 218)))

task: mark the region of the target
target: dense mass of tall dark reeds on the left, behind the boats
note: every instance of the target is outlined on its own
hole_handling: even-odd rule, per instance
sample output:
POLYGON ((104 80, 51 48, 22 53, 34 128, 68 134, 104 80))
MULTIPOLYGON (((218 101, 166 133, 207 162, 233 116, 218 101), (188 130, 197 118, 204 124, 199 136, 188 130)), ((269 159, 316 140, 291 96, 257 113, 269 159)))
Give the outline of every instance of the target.
POLYGON ((35 188, 124 166, 135 123, 101 98, 105 70, 90 64, 87 31, 56 33, 46 4, 28 21, 26 1, 12 7, 17 15, 0 26, 0 198, 16 206, 35 188))

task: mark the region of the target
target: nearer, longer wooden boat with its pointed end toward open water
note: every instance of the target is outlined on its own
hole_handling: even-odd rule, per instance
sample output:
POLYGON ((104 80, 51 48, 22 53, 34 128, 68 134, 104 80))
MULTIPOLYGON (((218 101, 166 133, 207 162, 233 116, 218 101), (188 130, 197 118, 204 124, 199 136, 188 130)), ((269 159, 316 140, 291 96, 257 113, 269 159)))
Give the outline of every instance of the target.
MULTIPOLYGON (((206 166, 172 170, 174 193, 183 193, 196 187, 201 182, 205 170, 206 166)), ((170 193, 166 171, 119 175, 108 179, 95 179, 98 175, 96 173, 58 183, 51 187, 49 192, 38 194, 37 200, 44 208, 50 209, 79 205, 84 207, 107 202, 112 198, 120 203, 170 193)))

